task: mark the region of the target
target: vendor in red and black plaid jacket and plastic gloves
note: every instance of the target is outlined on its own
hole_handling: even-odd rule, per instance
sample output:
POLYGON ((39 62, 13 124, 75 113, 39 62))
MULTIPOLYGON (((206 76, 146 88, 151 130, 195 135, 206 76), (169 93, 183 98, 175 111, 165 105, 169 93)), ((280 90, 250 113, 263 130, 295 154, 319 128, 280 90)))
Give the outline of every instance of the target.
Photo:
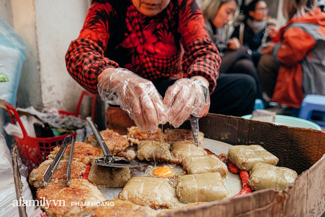
POLYGON ((142 131, 254 107, 253 79, 218 75, 220 56, 193 0, 92 1, 66 64, 79 84, 120 105, 142 131))

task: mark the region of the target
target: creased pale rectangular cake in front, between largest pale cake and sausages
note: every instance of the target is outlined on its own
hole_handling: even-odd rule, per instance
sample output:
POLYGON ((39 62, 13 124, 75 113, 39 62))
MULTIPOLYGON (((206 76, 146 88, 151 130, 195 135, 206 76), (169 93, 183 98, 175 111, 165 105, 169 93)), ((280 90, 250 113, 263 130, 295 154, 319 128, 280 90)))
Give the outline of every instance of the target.
POLYGON ((210 202, 228 197, 220 173, 179 176, 176 195, 184 203, 210 202))

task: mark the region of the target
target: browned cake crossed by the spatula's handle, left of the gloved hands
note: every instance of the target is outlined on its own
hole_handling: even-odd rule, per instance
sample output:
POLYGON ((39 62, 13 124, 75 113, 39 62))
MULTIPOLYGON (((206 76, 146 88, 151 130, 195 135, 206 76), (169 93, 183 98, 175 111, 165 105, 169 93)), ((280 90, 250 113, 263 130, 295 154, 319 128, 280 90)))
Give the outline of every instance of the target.
MULTIPOLYGON (((113 156, 115 156, 117 152, 123 151, 125 148, 127 148, 127 146, 129 146, 127 139, 113 130, 106 129, 100 131, 100 134, 113 156)), ((90 143, 95 147, 100 147, 96 137, 93 134, 89 135, 85 142, 90 143)))

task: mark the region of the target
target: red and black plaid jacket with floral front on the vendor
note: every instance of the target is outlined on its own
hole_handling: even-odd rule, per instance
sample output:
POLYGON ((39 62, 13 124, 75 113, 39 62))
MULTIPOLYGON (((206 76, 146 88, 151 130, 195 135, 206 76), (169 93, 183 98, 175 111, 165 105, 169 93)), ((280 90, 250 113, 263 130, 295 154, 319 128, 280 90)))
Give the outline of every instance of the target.
POLYGON ((190 78, 201 75, 216 86, 220 56, 205 30, 195 0, 171 0, 153 17, 131 0, 93 1, 66 64, 71 76, 90 92, 106 68, 126 68, 143 78, 190 78))

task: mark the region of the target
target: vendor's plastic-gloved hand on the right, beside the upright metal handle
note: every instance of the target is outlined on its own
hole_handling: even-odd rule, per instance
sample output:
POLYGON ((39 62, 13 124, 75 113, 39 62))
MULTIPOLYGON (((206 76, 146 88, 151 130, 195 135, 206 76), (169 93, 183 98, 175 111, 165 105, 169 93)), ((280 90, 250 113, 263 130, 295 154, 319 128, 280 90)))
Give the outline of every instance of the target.
POLYGON ((164 104, 168 108, 168 121, 178 128, 189 115, 202 117, 208 113, 209 89, 199 79, 182 78, 167 89, 164 104))

